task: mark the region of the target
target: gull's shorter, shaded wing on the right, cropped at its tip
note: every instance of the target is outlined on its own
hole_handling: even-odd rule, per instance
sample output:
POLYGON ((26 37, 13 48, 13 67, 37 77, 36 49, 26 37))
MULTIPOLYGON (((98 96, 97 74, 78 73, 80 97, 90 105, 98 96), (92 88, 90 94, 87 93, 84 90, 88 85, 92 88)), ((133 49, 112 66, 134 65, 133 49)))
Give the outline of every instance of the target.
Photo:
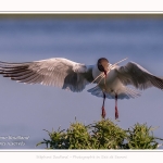
POLYGON ((116 72, 124 85, 133 85, 141 90, 149 87, 163 89, 163 79, 152 75, 137 63, 128 62, 125 66, 116 67, 116 72))

